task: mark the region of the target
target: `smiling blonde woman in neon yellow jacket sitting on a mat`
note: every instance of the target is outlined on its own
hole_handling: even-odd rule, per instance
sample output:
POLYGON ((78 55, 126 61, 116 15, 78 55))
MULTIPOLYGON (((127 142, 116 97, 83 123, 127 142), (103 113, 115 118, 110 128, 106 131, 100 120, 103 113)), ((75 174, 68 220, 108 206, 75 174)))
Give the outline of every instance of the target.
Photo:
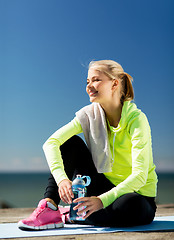
POLYGON ((51 170, 44 199, 21 229, 62 227, 60 199, 71 204, 72 179, 91 177, 87 197, 75 207, 86 211, 83 224, 133 226, 149 224, 156 211, 157 176, 148 120, 131 102, 132 78, 112 60, 91 62, 86 91, 92 104, 56 131, 43 149, 51 170), (75 136, 83 132, 86 144, 75 136))

